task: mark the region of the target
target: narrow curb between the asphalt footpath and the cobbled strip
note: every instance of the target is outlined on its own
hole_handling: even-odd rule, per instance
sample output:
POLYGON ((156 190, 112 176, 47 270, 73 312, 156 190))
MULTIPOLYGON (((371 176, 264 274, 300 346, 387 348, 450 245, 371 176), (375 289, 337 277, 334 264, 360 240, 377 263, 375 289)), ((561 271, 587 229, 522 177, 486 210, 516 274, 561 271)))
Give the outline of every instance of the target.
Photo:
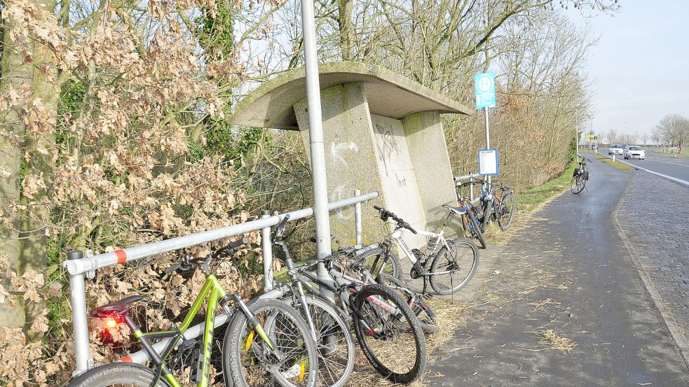
MULTIPOLYGON (((634 166, 632 165, 632 167, 634 166)), ((634 174, 634 176, 632 176, 632 178, 629 179, 629 183, 627 183, 627 188, 625 189, 625 192, 622 192, 622 199, 620 199, 617 206, 615 206, 615 211, 613 211, 613 216, 611 217, 613 218, 613 225, 615 226, 615 230, 617 230, 618 234, 620 235, 622 242, 624 242, 625 246, 627 247, 627 251, 629 251, 629 257, 632 258, 632 262, 634 262, 636 272, 639 273, 639 278, 641 279, 641 282, 643 282, 643 286, 646 288, 646 291, 648 291, 648 295, 650 295, 650 298, 653 300, 655 308, 658 310, 658 312, 660 312, 660 316, 662 317, 662 320, 665 323, 667 330, 669 330, 670 335, 674 339, 674 342, 677 345, 677 349, 679 350, 679 353, 681 354, 682 359, 684 360, 684 364, 687 366, 687 368, 689 368, 689 339, 685 337, 685 335, 683 335, 682 328, 675 320, 669 307, 667 307, 665 302, 662 300, 660 292, 658 292, 655 283, 653 283, 653 280, 650 279, 650 275, 646 271, 646 268, 643 267, 643 265, 641 264, 641 258, 639 258, 639 254, 636 253, 636 249, 632 245, 632 242, 629 241, 629 238, 627 238, 625 232, 622 230, 622 226, 620 225, 620 221, 618 220, 618 213, 620 211, 620 207, 622 207, 622 204, 627 199, 627 192, 629 192, 629 189, 632 188, 634 178, 636 178, 636 174, 634 174)))

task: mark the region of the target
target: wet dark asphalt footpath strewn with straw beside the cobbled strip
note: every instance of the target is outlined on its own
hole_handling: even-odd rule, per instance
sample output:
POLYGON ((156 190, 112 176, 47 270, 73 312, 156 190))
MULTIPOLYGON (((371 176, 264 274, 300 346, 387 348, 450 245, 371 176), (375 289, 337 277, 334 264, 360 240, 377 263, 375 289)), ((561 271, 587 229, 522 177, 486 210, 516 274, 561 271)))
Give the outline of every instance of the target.
POLYGON ((431 386, 689 386, 614 224, 634 172, 591 169, 588 190, 547 204, 505 246, 468 326, 435 351, 431 386))

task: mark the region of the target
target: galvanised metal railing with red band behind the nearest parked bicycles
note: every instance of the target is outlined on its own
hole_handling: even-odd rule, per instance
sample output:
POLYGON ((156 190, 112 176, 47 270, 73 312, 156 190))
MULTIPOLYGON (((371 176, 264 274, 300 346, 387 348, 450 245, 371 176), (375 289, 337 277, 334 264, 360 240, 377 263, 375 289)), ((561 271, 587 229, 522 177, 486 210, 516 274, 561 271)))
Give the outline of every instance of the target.
MULTIPOLYGON (((360 195, 359 190, 355 190, 355 196, 348 199, 339 200, 328 204, 328 211, 341 209, 346 206, 354 206, 355 215, 355 232, 357 244, 362 241, 362 218, 361 218, 361 203, 370 199, 378 197, 378 192, 371 192, 365 195, 360 195)), ((92 255, 90 251, 86 251, 86 257, 83 256, 82 251, 69 251, 67 253, 67 260, 63 265, 69 272, 69 286, 71 290, 70 301, 72 308, 72 327, 74 329, 74 351, 76 355, 76 372, 81 374, 93 366, 93 359, 90 357, 90 349, 88 343, 88 325, 86 321, 86 290, 84 287, 84 276, 93 278, 95 270, 104 267, 110 267, 117 264, 132 262, 141 258, 149 257, 151 255, 158 255, 167 253, 169 251, 179 250, 197 244, 203 244, 210 241, 216 241, 227 237, 234 237, 236 235, 245 234, 247 232, 261 230, 262 247, 264 254, 264 290, 266 292, 271 290, 273 286, 273 248, 271 243, 271 227, 278 225, 286 213, 271 216, 265 213, 260 219, 252 220, 247 223, 240 223, 238 225, 231 225, 217 230, 209 230, 205 232, 198 232, 196 234, 187 235, 185 237, 177 237, 166 239, 165 241, 157 241, 151 244, 144 244, 116 250, 111 253, 104 253, 99 255, 92 255)), ((289 222, 308 218, 313 216, 313 207, 307 209, 300 209, 298 211, 289 213, 289 222)), ((226 323, 228 316, 221 314, 215 318, 215 326, 226 323)), ((198 337, 203 332, 203 323, 195 325, 189 330, 186 330, 184 337, 191 339, 198 337)), ((157 351, 165 347, 168 340, 161 340, 154 345, 157 351)), ((135 363, 142 363, 148 357, 143 351, 130 354, 130 358, 135 363)))

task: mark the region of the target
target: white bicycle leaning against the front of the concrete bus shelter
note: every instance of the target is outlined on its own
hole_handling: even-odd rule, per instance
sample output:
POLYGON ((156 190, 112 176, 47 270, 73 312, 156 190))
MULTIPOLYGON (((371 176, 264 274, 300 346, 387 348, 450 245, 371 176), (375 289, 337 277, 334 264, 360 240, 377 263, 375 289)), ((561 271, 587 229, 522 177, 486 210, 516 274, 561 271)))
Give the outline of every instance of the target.
MULTIPOLYGON (((409 276, 413 279, 423 278, 422 293, 427 293, 428 283, 439 295, 456 293, 469 283, 479 262, 479 251, 473 241, 465 238, 447 241, 444 231, 417 231, 395 213, 378 206, 374 206, 374 209, 378 210, 384 222, 390 219, 395 221, 395 230, 390 234, 390 241, 385 241, 378 248, 372 248, 360 255, 360 259, 364 260, 364 265, 374 277, 384 273, 400 279, 402 264, 391 252, 392 241, 395 241, 402 253, 411 261, 409 276), (428 237, 429 243, 424 251, 410 248, 404 240, 405 232, 428 237)), ((464 211, 461 208, 452 209, 464 211)))

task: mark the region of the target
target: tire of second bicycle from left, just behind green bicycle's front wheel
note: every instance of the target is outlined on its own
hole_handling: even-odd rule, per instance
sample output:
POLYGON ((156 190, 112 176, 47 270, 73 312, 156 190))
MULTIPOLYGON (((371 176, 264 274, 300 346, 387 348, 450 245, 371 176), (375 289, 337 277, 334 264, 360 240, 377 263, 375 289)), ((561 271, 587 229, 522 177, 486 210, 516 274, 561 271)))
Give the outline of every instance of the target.
MULTIPOLYGON (((296 307, 296 305, 294 305, 293 297, 285 297, 282 299, 282 301, 292 303, 292 307, 296 307)), ((301 310, 301 303, 297 302, 297 304, 299 304, 299 307, 296 307, 295 309, 301 310)), ((354 370, 354 363, 356 359, 354 339, 350 333, 349 324, 344 320, 344 318, 342 318, 342 316, 340 316, 339 312, 336 311, 331 304, 329 304, 329 302, 322 300, 320 297, 315 295, 306 295, 306 304, 311 309, 311 316, 313 316, 314 325, 318 325, 315 327, 316 330, 318 330, 316 334, 316 347, 318 348, 319 357, 318 386, 343 387, 347 383, 347 380, 354 370), (319 318, 316 316, 316 313, 314 313, 315 311, 312 308, 320 309, 322 312, 327 314, 327 318, 332 318, 334 323, 325 326, 318 324, 319 318), (337 351, 337 349, 334 349, 334 345, 336 344, 333 344, 332 340, 329 340, 328 337, 324 336, 336 335, 337 331, 342 332, 342 337, 344 339, 344 359, 346 360, 346 363, 341 371, 333 370, 332 367, 332 365, 337 362, 336 358, 338 357, 333 352, 337 351), (327 358, 325 358, 325 356, 327 356, 327 358)), ((332 339, 332 337, 330 338, 332 339)), ((342 353, 339 352, 339 354, 342 353)))

